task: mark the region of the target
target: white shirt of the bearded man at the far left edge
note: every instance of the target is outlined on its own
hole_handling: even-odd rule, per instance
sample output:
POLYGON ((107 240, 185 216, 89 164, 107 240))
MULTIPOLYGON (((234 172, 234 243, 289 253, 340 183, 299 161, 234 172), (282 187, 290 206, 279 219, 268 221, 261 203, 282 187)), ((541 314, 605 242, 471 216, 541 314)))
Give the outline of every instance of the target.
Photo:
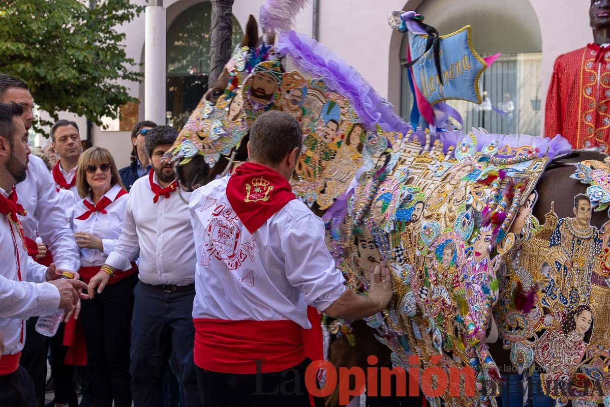
MULTIPOLYGON (((0 188, 0 193, 7 193, 0 188)), ((2 355, 14 355, 26 340, 24 319, 52 314, 59 307, 59 290, 46 283, 46 267, 27 255, 19 229, 0 214, 0 331, 2 355)))

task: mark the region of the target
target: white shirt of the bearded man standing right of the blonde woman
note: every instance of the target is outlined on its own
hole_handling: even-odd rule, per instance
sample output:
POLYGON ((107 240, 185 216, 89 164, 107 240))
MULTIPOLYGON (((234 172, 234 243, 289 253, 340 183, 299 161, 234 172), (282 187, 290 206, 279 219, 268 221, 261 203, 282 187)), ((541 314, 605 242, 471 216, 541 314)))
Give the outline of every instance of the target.
MULTIPOLYGON (((153 181, 158 183, 157 175, 153 181)), ((172 192, 153 203, 148 177, 139 178, 129 191, 121 236, 106 264, 122 268, 140 251, 138 276, 143 283, 187 286, 195 281, 195 245, 188 217, 190 193, 172 192)))

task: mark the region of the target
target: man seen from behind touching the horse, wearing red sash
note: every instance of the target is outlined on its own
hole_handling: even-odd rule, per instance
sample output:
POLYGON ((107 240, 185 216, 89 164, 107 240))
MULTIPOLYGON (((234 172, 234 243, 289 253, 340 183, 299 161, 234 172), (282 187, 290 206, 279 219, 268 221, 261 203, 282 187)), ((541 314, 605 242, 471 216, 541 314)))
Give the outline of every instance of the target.
POLYGON ((361 319, 392 297, 389 270, 381 265, 367 297, 346 289, 322 220, 288 182, 302 140, 289 114, 263 113, 250 130, 249 162, 191 197, 202 406, 309 406, 304 373, 321 352, 307 347, 321 345, 321 334, 309 334, 320 320, 308 304, 331 317, 361 319))

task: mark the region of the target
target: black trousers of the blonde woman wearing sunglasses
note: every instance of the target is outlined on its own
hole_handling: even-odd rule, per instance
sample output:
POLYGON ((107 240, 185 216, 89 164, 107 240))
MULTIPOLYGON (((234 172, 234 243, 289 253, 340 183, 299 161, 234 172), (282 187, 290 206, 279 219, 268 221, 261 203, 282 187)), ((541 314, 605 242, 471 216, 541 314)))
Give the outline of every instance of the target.
POLYGON ((137 274, 82 300, 81 323, 87 343, 95 407, 131 407, 129 341, 137 274))

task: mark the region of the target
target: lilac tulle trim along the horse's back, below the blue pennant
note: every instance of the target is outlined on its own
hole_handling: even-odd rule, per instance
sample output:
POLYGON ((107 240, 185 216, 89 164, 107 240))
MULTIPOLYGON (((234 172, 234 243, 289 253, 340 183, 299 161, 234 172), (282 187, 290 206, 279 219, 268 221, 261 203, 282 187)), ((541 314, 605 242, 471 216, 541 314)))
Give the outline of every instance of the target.
MULTIPOLYGON (((553 139, 549 137, 539 137, 533 135, 523 134, 486 134, 478 131, 472 132, 476 136, 476 149, 478 151, 483 148, 484 145, 491 143, 495 140, 498 143, 498 147, 509 145, 511 147, 531 146, 532 148, 538 149, 538 156, 542 157, 547 155, 551 160, 554 157, 569 154, 572 151, 572 145, 568 140, 564 139, 561 135, 556 135, 553 139), (547 153, 548 148, 548 153, 547 153)), ((470 137, 461 131, 447 131, 440 133, 440 141, 443 143, 443 151, 447 153, 448 148, 462 142, 466 138, 467 142, 470 142, 470 137)))

